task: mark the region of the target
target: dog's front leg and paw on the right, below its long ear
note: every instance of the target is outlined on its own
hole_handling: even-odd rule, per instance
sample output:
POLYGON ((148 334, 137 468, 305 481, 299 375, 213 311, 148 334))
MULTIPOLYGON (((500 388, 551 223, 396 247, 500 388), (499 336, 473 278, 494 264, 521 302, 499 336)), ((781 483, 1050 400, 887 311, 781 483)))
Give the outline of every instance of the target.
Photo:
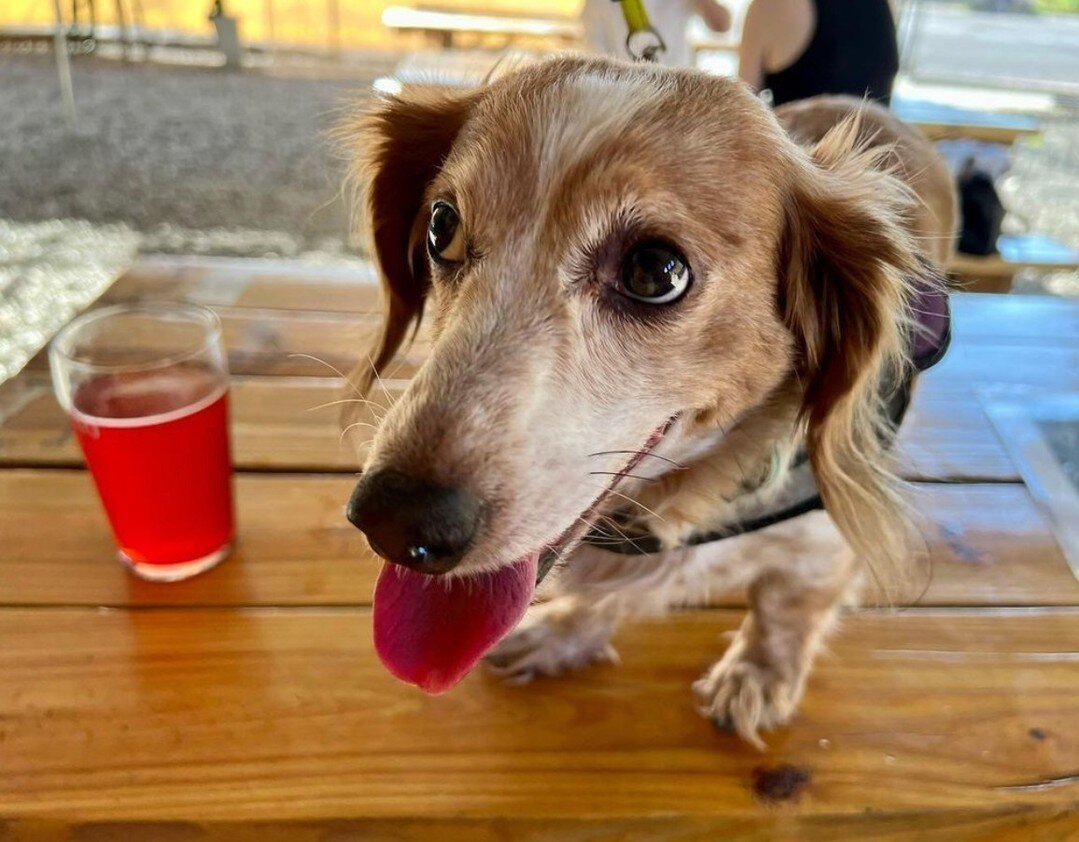
POLYGON ((750 612, 726 653, 693 685, 698 709, 764 748, 761 731, 786 724, 844 598, 852 596, 853 559, 791 547, 750 584, 750 612))

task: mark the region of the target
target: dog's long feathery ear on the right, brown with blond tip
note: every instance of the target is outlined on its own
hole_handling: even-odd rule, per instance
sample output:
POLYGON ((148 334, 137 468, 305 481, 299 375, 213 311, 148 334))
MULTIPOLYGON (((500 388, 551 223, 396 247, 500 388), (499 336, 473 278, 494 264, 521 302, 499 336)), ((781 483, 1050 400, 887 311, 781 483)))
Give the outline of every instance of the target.
POLYGON ((779 305, 795 340, 806 444, 829 513, 893 579, 910 560, 883 386, 911 365, 926 268, 903 225, 913 196, 858 140, 857 121, 795 160, 779 248, 779 305))

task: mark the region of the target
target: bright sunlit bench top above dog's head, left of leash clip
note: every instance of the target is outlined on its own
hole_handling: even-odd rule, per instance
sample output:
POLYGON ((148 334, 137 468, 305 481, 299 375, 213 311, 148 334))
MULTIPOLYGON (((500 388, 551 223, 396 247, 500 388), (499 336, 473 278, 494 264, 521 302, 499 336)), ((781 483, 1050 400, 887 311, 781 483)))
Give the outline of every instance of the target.
POLYGON ((498 36, 508 43, 522 38, 573 43, 584 37, 581 24, 568 18, 404 5, 383 11, 382 24, 399 32, 423 32, 445 49, 454 46, 462 36, 498 36))

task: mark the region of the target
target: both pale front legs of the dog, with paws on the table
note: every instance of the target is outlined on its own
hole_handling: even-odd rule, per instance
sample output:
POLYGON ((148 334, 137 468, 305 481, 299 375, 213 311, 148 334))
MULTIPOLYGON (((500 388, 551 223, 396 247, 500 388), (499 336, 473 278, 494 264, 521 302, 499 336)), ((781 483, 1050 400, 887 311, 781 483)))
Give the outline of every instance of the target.
POLYGON ((497 675, 524 682, 614 662, 611 637, 622 622, 655 616, 672 606, 700 605, 710 594, 753 583, 754 610, 746 627, 696 689, 702 711, 735 724, 743 736, 752 734, 747 738, 759 744, 756 730, 783 721, 801 695, 812 654, 850 579, 850 566, 837 561, 846 557, 844 547, 823 512, 661 556, 619 556, 584 547, 562 571, 552 598, 535 606, 495 647, 488 663, 497 675), (815 611, 814 599, 827 607, 815 611), (747 671, 743 656, 771 666, 754 674, 759 680, 752 689, 761 701, 755 707, 749 702, 747 710, 757 710, 755 718, 742 716, 736 704, 747 671), (792 681, 784 684, 788 677, 792 681), (719 704, 724 701, 725 707, 719 704))

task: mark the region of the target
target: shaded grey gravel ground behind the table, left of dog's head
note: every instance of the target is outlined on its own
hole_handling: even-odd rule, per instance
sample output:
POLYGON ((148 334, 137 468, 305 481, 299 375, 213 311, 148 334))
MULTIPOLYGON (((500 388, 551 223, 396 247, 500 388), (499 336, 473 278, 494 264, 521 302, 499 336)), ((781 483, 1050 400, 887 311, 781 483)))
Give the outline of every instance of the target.
POLYGON ((148 252, 341 248, 343 161, 327 132, 370 78, 72 66, 74 135, 52 58, 0 52, 0 218, 124 222, 148 252))

